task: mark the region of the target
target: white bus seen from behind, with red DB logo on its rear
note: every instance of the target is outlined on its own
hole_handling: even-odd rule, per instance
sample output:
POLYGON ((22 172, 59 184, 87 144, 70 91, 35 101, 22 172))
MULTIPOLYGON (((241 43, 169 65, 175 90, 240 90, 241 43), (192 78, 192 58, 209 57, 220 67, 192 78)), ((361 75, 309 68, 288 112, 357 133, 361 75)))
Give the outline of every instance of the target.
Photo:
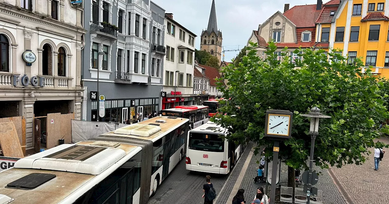
POLYGON ((228 130, 213 122, 192 129, 187 137, 186 169, 228 174, 244 151, 244 144, 227 139, 228 130))

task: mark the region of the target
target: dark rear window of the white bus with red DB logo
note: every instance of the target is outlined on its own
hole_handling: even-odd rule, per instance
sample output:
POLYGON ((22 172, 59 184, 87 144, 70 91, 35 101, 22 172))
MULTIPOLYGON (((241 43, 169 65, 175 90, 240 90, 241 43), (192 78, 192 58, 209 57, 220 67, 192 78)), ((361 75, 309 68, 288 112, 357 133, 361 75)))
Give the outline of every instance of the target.
POLYGON ((224 141, 220 134, 191 133, 189 149, 207 152, 224 152, 224 141))

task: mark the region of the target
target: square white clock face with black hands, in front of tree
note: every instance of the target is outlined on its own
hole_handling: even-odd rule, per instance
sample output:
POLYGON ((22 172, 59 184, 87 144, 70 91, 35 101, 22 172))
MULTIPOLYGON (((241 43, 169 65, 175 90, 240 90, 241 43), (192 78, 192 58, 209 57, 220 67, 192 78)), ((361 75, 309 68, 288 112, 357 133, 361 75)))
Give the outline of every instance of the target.
POLYGON ((267 134, 289 135, 290 116, 289 115, 268 115, 267 134))

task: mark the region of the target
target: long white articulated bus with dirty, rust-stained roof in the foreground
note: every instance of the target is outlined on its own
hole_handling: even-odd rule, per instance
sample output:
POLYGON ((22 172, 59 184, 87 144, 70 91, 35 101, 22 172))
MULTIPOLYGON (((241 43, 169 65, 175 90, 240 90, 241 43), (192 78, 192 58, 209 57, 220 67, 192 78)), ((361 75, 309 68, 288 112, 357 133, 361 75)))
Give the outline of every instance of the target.
POLYGON ((0 204, 145 204, 185 153, 188 119, 154 117, 19 159, 0 204))

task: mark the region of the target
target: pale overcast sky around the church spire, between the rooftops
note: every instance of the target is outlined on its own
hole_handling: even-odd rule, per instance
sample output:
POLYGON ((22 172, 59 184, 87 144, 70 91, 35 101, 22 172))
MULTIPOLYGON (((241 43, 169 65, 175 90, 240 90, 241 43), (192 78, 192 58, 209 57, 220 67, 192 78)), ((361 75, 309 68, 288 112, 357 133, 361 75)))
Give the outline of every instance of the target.
MULTIPOLYGON (((329 0, 323 0, 323 3, 329 0)), ((196 38, 196 48, 200 49, 200 35, 208 26, 212 0, 152 0, 173 13, 173 19, 192 31, 196 38)), ((237 49, 246 45, 252 30, 265 22, 277 10, 284 11, 284 4, 290 8, 295 5, 315 4, 317 0, 215 0, 217 27, 223 32, 225 50, 237 49)), ((225 61, 231 61, 238 52, 225 52, 225 61)))

